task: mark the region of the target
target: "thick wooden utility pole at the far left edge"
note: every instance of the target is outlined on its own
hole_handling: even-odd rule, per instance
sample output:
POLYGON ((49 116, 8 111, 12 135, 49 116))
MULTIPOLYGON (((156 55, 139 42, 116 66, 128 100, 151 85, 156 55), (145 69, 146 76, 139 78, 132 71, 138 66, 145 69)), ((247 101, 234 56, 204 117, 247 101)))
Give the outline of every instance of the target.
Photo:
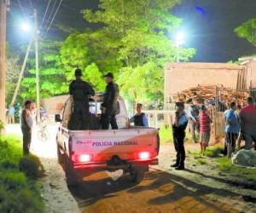
MULTIPOLYGON (((0 120, 3 122, 4 127, 6 81, 6 12, 7 0, 0 0, 0 120)), ((3 130, 3 133, 4 132, 5 130, 3 130)))

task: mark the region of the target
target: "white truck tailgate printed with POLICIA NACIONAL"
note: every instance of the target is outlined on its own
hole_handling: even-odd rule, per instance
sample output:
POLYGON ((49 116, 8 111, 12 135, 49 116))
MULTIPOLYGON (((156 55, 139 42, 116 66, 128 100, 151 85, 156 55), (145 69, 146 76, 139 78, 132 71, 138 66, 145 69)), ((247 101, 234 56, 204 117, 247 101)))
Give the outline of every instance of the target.
POLYGON ((124 160, 137 159, 142 152, 148 152, 150 158, 158 154, 156 129, 70 131, 69 135, 71 153, 90 154, 94 162, 106 161, 113 156, 124 160))

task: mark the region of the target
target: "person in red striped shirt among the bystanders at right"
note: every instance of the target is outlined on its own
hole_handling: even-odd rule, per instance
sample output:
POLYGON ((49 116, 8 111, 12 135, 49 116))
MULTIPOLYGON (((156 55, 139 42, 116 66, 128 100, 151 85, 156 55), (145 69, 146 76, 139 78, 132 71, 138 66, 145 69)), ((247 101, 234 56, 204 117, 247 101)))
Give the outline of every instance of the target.
POLYGON ((204 155, 206 148, 208 147, 211 136, 211 123, 212 119, 207 113, 207 107, 201 106, 200 118, 200 146, 201 153, 204 155))

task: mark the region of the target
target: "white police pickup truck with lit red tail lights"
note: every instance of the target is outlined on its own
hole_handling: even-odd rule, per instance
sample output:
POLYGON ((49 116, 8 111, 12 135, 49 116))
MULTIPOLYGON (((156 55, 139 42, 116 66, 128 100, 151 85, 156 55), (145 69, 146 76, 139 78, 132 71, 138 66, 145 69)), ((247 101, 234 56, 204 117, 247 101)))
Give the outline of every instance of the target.
MULTIPOLYGON (((68 130, 73 110, 70 97, 55 122, 61 122, 57 136, 57 154, 67 176, 67 185, 77 185, 84 176, 102 170, 124 170, 131 181, 143 180, 149 164, 158 164, 159 132, 154 128, 131 127, 125 101, 119 96, 119 130, 68 130)), ((90 113, 94 121, 101 116, 102 95, 90 100, 90 113)))

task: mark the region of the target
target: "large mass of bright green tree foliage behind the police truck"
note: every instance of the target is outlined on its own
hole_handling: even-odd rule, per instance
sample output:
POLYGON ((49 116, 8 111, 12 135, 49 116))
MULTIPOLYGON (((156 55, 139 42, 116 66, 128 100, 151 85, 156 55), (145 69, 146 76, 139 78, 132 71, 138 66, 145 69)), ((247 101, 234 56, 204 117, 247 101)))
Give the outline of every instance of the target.
MULTIPOLYGON (((80 68, 96 91, 105 87, 102 75, 113 72, 127 98, 162 97, 166 61, 187 61, 195 55, 195 49, 177 47, 170 40, 182 23, 170 12, 177 3, 180 0, 101 0, 98 10, 84 9, 84 19, 101 27, 79 32, 61 26, 71 33, 65 41, 39 43, 41 96, 66 93, 74 70, 80 68)), ((23 98, 36 95, 32 58, 22 81, 23 98)))

